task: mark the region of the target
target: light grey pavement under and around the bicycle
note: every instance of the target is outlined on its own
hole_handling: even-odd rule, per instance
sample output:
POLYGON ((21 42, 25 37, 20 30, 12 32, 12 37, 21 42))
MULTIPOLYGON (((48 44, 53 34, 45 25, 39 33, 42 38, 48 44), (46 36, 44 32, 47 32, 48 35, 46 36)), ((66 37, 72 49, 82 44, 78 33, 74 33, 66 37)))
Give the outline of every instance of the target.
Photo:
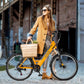
MULTIPOLYGON (((0 59, 0 65, 5 65, 6 59, 0 59)), ((5 71, 0 71, 0 84, 84 84, 84 63, 78 63, 79 68, 76 76, 68 81, 60 80, 42 80, 38 73, 32 75, 24 81, 11 79, 5 71)), ((50 71, 48 72, 48 74, 50 71)))

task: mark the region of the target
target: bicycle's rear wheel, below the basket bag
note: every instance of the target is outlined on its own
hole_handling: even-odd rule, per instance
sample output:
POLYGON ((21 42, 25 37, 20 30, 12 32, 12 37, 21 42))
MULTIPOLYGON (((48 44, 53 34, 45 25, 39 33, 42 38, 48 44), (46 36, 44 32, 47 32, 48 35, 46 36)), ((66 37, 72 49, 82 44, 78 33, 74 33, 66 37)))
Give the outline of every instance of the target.
POLYGON ((7 74, 14 80, 22 81, 30 77, 33 72, 33 62, 31 59, 27 60, 22 64, 22 67, 31 67, 30 69, 19 68, 24 58, 21 54, 13 55, 9 57, 6 63, 7 74))

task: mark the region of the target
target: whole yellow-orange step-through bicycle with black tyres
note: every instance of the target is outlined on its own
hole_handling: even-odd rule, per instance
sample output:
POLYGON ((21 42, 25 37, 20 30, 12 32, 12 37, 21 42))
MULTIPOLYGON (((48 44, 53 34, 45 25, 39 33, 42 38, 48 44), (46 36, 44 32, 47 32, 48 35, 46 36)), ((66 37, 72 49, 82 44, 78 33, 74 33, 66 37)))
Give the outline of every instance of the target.
MULTIPOLYGON (((53 33, 55 35, 55 33, 53 33)), ((58 42, 60 38, 58 39, 58 42)), ((22 54, 14 54, 6 62, 6 71, 14 80, 22 81, 30 77, 33 70, 40 73, 40 67, 43 65, 49 54, 55 52, 50 62, 50 69, 54 77, 59 80, 69 80, 73 78, 78 71, 78 63, 75 57, 69 54, 61 54, 57 49, 55 41, 52 41, 48 50, 43 54, 40 60, 32 58, 23 58, 22 54)))

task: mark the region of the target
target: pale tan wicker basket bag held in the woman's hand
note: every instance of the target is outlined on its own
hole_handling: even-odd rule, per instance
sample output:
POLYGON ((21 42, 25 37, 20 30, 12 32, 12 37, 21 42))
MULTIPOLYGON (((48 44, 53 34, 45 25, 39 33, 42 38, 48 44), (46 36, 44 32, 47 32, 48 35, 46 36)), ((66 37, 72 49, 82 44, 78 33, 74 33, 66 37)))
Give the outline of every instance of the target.
POLYGON ((37 57, 37 47, 38 44, 34 44, 32 41, 32 44, 21 44, 21 50, 23 57, 37 57))

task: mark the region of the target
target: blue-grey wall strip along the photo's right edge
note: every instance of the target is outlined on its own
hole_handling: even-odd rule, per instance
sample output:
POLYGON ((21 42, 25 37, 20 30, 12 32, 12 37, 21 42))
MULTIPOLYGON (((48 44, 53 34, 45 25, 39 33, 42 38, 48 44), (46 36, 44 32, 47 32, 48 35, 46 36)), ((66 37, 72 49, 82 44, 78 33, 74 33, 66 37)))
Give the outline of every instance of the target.
POLYGON ((84 62, 84 0, 78 0, 78 60, 84 62))

